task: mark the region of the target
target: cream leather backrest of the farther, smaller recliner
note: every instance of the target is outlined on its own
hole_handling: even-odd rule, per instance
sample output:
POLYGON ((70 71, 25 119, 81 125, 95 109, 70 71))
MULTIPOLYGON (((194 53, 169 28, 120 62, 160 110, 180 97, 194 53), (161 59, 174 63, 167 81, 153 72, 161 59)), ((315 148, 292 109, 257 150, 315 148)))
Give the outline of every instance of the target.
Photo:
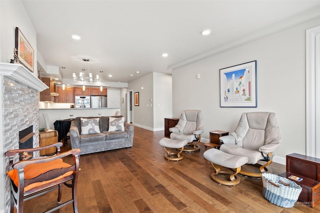
POLYGON ((203 129, 204 122, 201 110, 183 110, 176 125, 184 135, 193 134, 197 129, 203 129))

